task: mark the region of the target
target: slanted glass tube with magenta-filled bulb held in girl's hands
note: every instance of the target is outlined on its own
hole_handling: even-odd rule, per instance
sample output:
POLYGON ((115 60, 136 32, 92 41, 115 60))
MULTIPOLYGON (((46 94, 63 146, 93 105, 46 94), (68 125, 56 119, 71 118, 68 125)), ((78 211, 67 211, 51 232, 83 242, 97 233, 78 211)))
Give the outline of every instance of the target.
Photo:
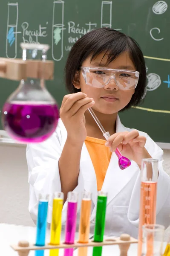
MULTIPOLYGON (((89 108, 89 112, 92 115, 95 122, 97 123, 98 127, 101 129, 101 132, 103 133, 103 136, 105 137, 105 139, 108 140, 109 137, 110 137, 109 132, 108 131, 106 132, 104 130, 103 126, 101 125, 101 122, 98 120, 98 118, 95 115, 95 113, 93 112, 92 108, 89 108)), ((127 167, 129 167, 131 165, 130 160, 127 157, 122 156, 122 154, 121 154, 121 152, 118 148, 116 148, 115 154, 118 157, 118 165, 119 165, 121 170, 124 170, 124 169, 126 169, 127 167)))

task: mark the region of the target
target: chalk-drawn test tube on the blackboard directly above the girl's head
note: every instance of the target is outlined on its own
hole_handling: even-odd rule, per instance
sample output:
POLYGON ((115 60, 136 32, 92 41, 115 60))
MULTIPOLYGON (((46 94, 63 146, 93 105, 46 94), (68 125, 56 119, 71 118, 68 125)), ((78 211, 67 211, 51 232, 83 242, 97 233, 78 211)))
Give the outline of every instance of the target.
POLYGON ((112 27, 112 1, 101 2, 101 28, 112 27))

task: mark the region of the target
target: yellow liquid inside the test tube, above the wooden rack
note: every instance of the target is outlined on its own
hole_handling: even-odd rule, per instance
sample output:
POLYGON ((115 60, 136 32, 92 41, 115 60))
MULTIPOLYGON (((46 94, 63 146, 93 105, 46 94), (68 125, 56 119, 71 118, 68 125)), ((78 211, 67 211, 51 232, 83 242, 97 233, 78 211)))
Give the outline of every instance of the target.
POLYGON ((52 208, 52 224, 51 224, 50 244, 60 244, 62 209, 63 209, 63 199, 54 198, 53 208, 52 208))

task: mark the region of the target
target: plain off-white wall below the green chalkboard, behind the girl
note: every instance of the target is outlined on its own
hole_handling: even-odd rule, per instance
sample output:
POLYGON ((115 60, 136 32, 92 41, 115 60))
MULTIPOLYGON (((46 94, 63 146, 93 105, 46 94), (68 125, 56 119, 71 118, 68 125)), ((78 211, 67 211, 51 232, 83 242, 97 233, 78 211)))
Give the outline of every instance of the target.
MULTIPOLYGON (((170 150, 164 150, 164 170, 170 175, 170 150)), ((29 184, 26 146, 0 142, 0 222, 34 226, 28 212, 29 184)), ((165 233, 165 241, 170 228, 165 233)))

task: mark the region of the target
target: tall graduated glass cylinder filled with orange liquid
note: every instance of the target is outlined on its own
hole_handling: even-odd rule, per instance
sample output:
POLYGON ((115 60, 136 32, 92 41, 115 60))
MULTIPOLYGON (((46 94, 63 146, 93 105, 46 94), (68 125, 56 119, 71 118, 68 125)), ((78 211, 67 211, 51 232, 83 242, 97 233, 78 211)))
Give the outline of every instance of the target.
MULTIPOLYGON (((158 160, 143 160, 143 169, 141 170, 141 198, 139 213, 138 230, 138 256, 142 253, 142 226, 144 224, 156 223, 156 196, 157 196, 157 178, 158 178, 158 160), (144 161, 146 160, 146 163, 144 161), (145 181, 144 181, 145 180, 145 181)), ((147 245, 147 256, 153 253, 153 239, 150 238, 147 245)))

